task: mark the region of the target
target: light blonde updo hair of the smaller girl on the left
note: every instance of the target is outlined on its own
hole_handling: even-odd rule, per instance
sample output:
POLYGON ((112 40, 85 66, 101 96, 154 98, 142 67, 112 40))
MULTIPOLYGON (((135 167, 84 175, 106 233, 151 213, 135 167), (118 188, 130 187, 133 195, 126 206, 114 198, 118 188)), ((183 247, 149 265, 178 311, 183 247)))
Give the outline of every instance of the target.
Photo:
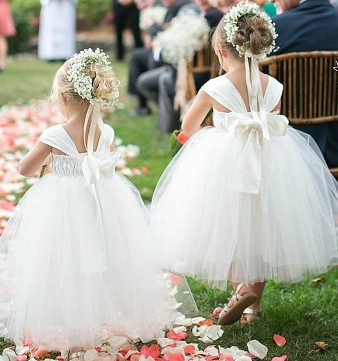
MULTIPOLYGON (((75 104, 88 107, 89 101, 81 98, 75 92, 73 82, 68 80, 69 69, 70 64, 67 60, 55 73, 49 99, 52 103, 58 103, 60 96, 63 95, 75 104)), ((92 79, 92 90, 98 100, 110 99, 115 95, 120 81, 110 66, 90 63, 87 65, 85 73, 92 79)))

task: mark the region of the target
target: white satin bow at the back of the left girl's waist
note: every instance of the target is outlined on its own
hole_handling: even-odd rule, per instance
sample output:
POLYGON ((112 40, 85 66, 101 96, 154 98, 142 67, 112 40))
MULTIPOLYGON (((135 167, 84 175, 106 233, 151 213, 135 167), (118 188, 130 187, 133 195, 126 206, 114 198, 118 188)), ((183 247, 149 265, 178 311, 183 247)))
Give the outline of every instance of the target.
POLYGON ((82 171, 87 183, 91 185, 98 182, 101 175, 111 176, 114 174, 120 157, 120 152, 114 152, 103 160, 96 158, 93 154, 86 155, 82 162, 82 171))

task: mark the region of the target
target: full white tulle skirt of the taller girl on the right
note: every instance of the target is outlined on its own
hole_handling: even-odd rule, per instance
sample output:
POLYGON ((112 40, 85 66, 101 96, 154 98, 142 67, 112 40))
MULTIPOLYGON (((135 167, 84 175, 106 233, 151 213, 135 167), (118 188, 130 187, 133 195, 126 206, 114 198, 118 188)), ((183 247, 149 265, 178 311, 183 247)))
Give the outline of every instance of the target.
POLYGON ((338 184, 318 147, 290 126, 264 141, 251 194, 236 190, 252 167, 247 160, 241 179, 245 142, 206 127, 168 165, 151 207, 160 263, 221 289, 325 272, 338 259, 338 184))

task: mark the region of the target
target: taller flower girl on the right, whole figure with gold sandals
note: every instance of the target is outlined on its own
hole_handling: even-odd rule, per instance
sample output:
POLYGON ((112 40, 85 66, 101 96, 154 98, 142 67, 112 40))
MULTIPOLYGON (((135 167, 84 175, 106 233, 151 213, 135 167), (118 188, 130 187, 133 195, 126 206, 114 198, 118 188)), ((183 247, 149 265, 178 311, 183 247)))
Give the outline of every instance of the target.
POLYGON ((276 36, 252 3, 224 15, 212 44, 226 74, 199 91, 183 119, 189 140, 152 201, 161 263, 231 282, 221 325, 258 321, 266 280, 297 282, 338 259, 337 182, 313 139, 279 114, 283 85, 258 69, 276 36), (211 108, 214 127, 201 129, 211 108))

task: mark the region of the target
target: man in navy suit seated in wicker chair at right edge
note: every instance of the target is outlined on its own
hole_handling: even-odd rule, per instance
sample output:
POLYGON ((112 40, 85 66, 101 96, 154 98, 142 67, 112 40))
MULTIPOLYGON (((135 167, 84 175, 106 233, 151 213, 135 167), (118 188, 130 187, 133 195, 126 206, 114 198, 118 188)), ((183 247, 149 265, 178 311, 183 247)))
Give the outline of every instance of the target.
MULTIPOLYGON (((276 0, 276 4, 283 13, 272 18, 278 33, 275 54, 338 50, 338 12, 329 0, 276 0)), ((294 127, 314 138, 330 167, 338 166, 338 122, 294 127)))

